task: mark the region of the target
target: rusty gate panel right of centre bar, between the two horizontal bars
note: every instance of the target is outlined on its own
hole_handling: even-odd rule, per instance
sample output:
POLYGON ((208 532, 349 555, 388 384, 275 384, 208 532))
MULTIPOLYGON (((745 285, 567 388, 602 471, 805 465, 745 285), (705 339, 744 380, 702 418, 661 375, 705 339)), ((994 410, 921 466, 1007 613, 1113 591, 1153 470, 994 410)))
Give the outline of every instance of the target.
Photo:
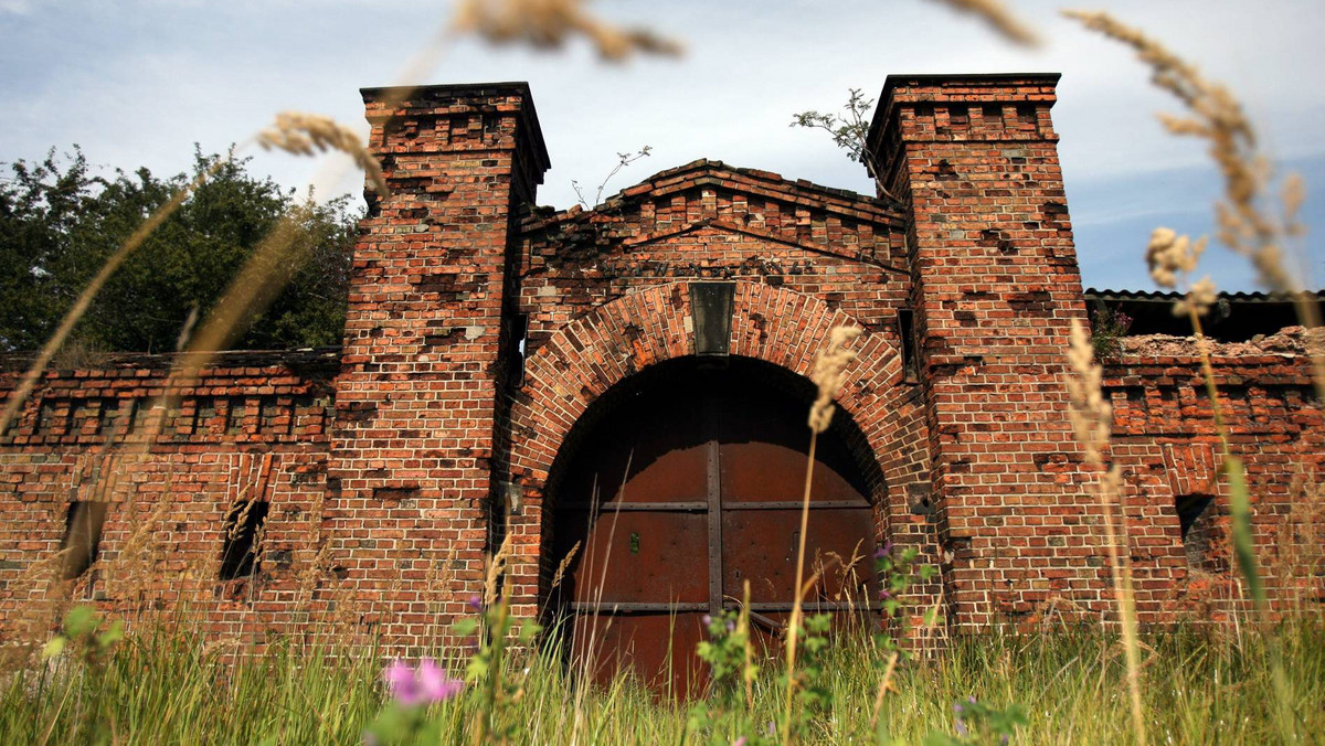
MULTIPOLYGON (((874 551, 872 511, 868 506, 815 510, 806 539, 806 578, 823 570, 806 599, 869 602, 874 551), (855 558, 855 562, 852 562, 855 558)), ((751 602, 794 600, 796 549, 800 541, 799 510, 722 511, 722 588, 739 599, 750 580, 751 602)))

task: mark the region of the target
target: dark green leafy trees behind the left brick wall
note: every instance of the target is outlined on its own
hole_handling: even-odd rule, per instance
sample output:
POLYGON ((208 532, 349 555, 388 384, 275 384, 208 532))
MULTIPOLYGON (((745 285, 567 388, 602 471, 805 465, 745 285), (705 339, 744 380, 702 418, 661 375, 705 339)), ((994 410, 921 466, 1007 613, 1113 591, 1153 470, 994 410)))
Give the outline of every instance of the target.
POLYGON ((17 162, 0 180, 0 350, 40 347, 78 293, 123 240, 171 193, 220 163, 111 277, 74 330, 70 346, 171 350, 189 314, 205 314, 282 213, 298 215, 306 240, 289 284, 237 339, 241 348, 339 342, 358 213, 348 196, 295 199, 246 160, 195 154, 192 174, 147 168, 94 175, 83 154, 17 162))

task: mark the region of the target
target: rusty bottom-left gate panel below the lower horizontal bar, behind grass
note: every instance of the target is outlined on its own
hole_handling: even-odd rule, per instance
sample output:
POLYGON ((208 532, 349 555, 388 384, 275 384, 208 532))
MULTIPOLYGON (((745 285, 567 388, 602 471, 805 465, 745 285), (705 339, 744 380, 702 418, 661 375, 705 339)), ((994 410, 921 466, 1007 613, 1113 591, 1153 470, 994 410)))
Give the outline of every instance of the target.
POLYGON ((708 670, 694 655, 705 639, 704 613, 697 612, 580 615, 570 664, 602 685, 617 672, 633 672, 661 697, 690 700, 708 684, 708 670))

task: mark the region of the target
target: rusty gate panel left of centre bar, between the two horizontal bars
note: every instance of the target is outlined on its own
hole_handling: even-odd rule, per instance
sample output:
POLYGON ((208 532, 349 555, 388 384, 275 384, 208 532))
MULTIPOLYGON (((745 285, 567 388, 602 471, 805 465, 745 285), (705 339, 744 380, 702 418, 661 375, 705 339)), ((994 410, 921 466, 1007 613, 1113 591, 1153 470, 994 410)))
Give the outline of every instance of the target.
MULTIPOLYGON (((574 531, 575 526, 584 526, 588 515, 567 514, 567 533, 574 531)), ((566 580, 570 586, 566 594, 571 600, 708 602, 706 513, 602 511, 587 534, 566 580)), ((579 537, 584 537, 583 529, 579 537)), ((576 539, 566 537, 558 545, 566 541, 576 539)))

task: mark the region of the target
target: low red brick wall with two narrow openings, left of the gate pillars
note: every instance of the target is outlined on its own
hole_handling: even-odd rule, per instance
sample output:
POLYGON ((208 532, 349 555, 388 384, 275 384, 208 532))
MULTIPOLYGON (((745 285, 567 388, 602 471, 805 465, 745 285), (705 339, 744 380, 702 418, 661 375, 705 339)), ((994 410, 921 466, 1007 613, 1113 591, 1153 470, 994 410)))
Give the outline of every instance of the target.
POLYGON ((110 504, 105 567, 73 599, 119 612, 184 603, 216 629, 250 632, 307 612, 339 354, 228 354, 183 386, 170 363, 134 355, 50 374, 0 436, 0 643, 25 612, 41 617, 41 560, 60 551, 73 501, 110 504), (148 441, 158 403, 163 435, 148 441), (225 517, 244 500, 270 505, 262 572, 221 583, 225 517))

